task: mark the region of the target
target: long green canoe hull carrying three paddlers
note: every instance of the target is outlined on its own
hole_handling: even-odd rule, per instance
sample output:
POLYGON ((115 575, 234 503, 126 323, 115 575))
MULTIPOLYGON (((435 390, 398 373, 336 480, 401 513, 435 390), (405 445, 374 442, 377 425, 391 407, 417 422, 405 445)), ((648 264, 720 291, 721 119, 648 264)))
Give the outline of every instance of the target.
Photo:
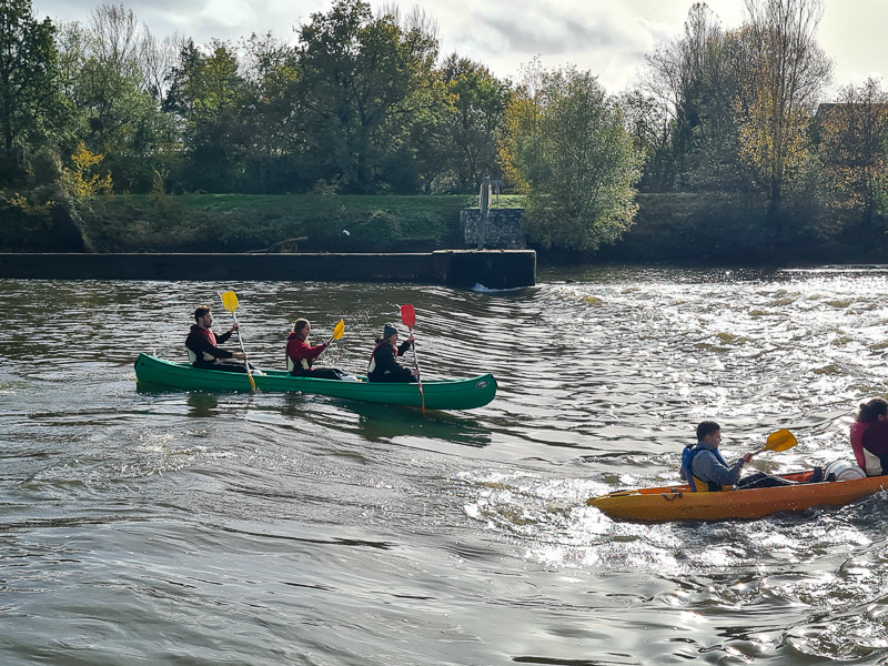
MULTIPOLYGON (((251 390, 245 373, 202 370, 190 363, 172 363, 148 354, 139 354, 135 360, 135 377, 145 384, 184 391, 251 390)), ((253 380, 259 391, 313 393, 390 405, 423 406, 417 384, 367 382, 366 377, 357 377, 356 382, 294 377, 283 370, 253 373, 253 380)), ((493 400, 496 380, 485 374, 468 380, 423 382, 423 392, 426 410, 471 410, 493 400)))

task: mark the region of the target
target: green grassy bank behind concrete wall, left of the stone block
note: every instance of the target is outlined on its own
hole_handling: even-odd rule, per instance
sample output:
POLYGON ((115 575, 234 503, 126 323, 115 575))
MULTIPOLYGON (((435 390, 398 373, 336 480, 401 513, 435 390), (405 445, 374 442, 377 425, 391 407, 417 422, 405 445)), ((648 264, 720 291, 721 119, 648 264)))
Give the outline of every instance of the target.
POLYGON ((100 252, 249 252, 303 239, 301 252, 427 251, 462 248, 453 196, 114 196, 82 212, 100 252))

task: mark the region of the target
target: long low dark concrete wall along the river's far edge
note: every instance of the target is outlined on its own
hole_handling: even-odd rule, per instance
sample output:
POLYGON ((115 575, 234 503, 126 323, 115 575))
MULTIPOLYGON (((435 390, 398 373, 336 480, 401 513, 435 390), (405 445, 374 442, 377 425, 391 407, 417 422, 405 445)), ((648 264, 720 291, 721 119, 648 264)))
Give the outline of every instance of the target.
POLYGON ((438 251, 398 254, 0 253, 0 279, 319 280, 412 282, 472 289, 532 286, 536 253, 438 251))

